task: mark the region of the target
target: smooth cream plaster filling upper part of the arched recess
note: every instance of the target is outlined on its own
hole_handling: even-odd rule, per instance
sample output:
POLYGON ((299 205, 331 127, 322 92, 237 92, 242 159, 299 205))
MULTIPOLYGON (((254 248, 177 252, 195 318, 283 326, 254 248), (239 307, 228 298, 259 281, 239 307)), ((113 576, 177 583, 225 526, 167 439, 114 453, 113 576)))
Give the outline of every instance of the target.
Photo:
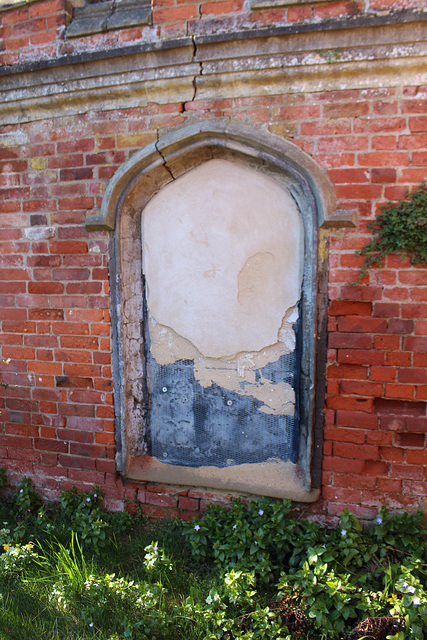
POLYGON ((172 361, 187 350, 230 359, 289 335, 282 325, 301 294, 303 229, 272 178, 210 160, 152 198, 142 243, 153 321, 184 339, 172 361))

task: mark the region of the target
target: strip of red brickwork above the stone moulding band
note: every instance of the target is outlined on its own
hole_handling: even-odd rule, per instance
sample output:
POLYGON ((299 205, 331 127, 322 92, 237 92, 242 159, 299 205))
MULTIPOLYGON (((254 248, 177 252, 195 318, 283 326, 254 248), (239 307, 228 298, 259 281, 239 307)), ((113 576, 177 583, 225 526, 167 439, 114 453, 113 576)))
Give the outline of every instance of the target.
POLYGON ((153 39, 212 34, 271 25, 386 15, 423 10, 425 0, 325 0, 320 4, 250 10, 249 0, 153 0, 151 25, 67 40, 72 16, 68 0, 44 0, 0 14, 0 65, 51 59, 65 54, 111 49, 153 39))

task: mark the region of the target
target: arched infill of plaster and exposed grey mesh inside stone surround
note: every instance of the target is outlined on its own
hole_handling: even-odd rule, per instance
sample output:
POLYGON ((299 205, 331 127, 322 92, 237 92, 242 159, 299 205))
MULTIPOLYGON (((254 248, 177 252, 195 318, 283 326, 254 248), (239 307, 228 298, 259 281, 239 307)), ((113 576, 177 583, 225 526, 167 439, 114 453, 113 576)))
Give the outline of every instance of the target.
POLYGON ((280 474, 299 441, 294 199, 260 172, 210 160, 154 196, 141 232, 149 455, 280 474))

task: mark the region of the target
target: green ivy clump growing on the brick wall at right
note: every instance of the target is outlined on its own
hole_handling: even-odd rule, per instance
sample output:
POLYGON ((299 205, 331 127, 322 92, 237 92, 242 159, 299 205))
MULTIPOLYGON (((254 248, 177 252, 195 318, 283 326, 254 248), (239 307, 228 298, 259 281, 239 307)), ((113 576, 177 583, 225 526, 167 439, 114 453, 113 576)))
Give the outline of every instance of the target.
POLYGON ((368 224, 373 238, 356 255, 365 256, 358 284, 371 267, 381 267, 391 253, 403 253, 411 264, 427 264, 427 184, 423 181, 398 202, 381 207, 376 219, 368 224))

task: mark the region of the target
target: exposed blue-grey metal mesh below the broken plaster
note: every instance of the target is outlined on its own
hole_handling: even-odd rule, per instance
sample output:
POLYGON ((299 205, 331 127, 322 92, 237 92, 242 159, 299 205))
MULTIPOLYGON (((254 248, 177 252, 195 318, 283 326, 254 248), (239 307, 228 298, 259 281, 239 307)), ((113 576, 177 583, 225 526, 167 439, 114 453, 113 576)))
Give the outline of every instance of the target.
POLYGON ((264 413, 263 403, 253 396, 216 384, 202 387, 192 361, 160 366, 150 352, 146 358, 151 456, 189 467, 226 467, 272 458, 296 461, 299 349, 256 372, 258 379, 293 387, 297 396, 293 416, 264 413))

